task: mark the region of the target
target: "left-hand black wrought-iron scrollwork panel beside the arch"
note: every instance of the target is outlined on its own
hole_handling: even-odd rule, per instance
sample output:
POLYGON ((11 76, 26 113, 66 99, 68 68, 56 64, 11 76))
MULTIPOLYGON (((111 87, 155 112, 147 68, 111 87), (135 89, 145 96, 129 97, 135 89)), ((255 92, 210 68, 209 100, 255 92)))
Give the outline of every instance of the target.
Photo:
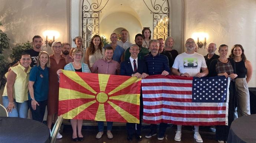
POLYGON ((89 46, 89 41, 93 35, 99 35, 99 13, 106 6, 109 0, 83 0, 82 3, 82 37, 83 47, 89 46), (102 1, 106 1, 102 5, 102 1))

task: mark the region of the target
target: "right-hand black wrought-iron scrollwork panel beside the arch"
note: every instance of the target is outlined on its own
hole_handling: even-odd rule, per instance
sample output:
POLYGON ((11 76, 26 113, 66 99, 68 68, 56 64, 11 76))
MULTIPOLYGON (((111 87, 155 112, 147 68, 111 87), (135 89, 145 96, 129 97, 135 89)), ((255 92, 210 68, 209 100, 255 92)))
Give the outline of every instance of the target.
MULTIPOLYGON (((163 38, 169 36, 169 3, 168 0, 150 0, 147 4, 143 0, 148 9, 153 14, 153 39, 163 38)), ((147 0, 148 2, 149 0, 147 0)))

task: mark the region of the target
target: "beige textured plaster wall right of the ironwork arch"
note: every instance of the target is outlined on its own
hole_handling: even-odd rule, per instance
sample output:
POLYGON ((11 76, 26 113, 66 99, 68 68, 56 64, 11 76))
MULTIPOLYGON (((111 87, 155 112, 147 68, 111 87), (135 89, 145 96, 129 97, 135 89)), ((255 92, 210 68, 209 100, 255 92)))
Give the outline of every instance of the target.
MULTIPOLYGON (((256 87, 256 1, 186 0, 186 17, 185 39, 194 32, 207 32, 207 42, 227 44, 229 53, 234 44, 241 44, 253 65, 249 87, 256 87)), ((198 51, 207 54, 206 49, 198 51)))

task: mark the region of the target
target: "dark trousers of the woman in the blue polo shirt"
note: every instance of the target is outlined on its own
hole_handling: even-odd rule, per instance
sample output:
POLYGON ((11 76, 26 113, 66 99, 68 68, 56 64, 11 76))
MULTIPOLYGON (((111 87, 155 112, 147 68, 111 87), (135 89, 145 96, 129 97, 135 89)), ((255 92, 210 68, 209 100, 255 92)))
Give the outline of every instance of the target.
POLYGON ((47 100, 37 101, 37 102, 38 102, 39 106, 36 105, 36 110, 33 110, 32 106, 31 106, 31 100, 29 100, 29 108, 32 113, 32 119, 39 121, 39 122, 43 122, 43 116, 45 115, 45 108, 47 105, 47 100))

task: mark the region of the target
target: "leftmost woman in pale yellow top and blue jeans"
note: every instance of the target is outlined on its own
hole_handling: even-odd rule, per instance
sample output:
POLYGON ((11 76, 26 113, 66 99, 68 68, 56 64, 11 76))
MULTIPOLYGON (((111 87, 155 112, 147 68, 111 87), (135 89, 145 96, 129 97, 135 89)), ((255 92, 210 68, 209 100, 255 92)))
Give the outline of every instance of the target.
POLYGON ((11 67, 7 75, 3 105, 9 117, 27 118, 30 63, 29 53, 22 53, 20 63, 11 67))

